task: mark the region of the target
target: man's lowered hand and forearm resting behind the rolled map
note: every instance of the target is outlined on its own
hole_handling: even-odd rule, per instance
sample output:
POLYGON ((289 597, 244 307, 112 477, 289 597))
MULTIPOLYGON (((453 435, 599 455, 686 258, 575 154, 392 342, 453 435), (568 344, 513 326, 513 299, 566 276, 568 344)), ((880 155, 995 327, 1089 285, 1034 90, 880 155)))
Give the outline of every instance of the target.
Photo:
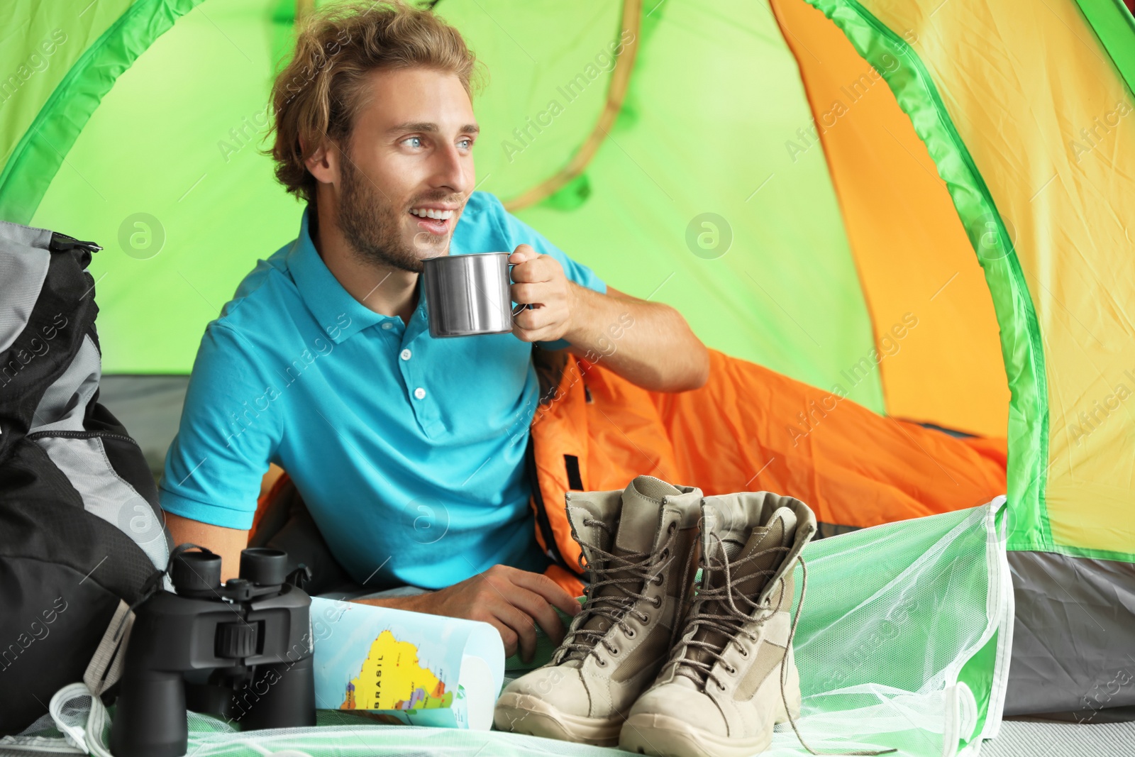
POLYGON ((575 615, 580 609, 574 597, 547 575, 507 565, 494 565, 461 583, 429 594, 358 602, 485 621, 499 631, 505 655, 516 654, 519 646, 521 659, 526 663, 531 662, 536 654, 537 623, 556 646, 564 639, 564 625, 553 606, 569 615, 575 615))

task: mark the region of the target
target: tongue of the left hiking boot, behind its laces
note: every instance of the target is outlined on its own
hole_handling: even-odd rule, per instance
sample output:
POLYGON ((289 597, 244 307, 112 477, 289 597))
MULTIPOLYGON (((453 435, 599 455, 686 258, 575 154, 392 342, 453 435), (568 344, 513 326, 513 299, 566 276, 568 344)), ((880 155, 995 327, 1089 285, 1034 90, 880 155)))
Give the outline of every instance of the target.
MULTIPOLYGON (((658 533, 658 523, 662 520, 662 498, 681 494, 681 490, 653 476, 639 476, 627 485, 623 490, 622 507, 619 515, 619 529, 615 532, 615 542, 611 548, 612 553, 620 556, 632 554, 650 553, 654 549, 654 541, 658 533)), ((634 562, 641 558, 631 557, 634 562)), ((630 573, 625 571, 612 571, 605 578, 627 578, 630 573)), ((639 594, 642 584, 619 583, 600 587, 595 597, 617 597, 630 604, 627 591, 639 594), (625 591, 619 587, 623 587, 625 591)), ((613 607, 613 603, 599 603, 604 607, 613 607)), ((592 615, 583 623, 582 628, 606 633, 612 622, 603 615, 592 615)), ((570 663, 569 663, 570 664, 570 663)))

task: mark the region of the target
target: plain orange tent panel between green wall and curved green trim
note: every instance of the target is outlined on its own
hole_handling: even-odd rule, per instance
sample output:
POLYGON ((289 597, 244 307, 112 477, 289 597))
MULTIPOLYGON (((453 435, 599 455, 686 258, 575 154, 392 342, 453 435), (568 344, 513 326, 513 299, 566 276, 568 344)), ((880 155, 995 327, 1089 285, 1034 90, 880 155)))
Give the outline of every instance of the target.
POLYGON ((772 7, 815 119, 785 135, 785 150, 827 158, 888 413, 1006 436, 1009 388, 993 301, 945 182, 881 73, 843 32, 804 0, 772 7))

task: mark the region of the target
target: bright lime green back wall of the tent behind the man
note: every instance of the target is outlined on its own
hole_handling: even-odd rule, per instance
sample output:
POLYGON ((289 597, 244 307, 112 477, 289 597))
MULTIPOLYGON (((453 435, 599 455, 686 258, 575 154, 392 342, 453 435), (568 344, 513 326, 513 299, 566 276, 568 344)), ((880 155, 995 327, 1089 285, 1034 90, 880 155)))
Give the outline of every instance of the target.
MULTIPOLYGON (((101 92, 106 82, 100 74, 121 65, 117 60, 92 61, 86 75, 73 83, 93 112, 77 137, 72 135, 74 146, 37 207, 27 207, 33 187, 15 176, 48 180, 50 163, 58 162, 51 145, 39 148, 40 165, 19 170, 17 162, 0 177, 5 179, 0 213, 6 218, 42 225, 66 217, 76 233, 141 246, 128 247, 127 254, 118 245, 115 252, 123 254, 99 256, 92 266, 95 278, 101 277, 100 329, 108 373, 187 372, 204 325, 232 296, 235 283, 257 259, 294 238, 299 228, 301 209, 275 184, 270 161, 257 153, 262 146, 258 137, 267 126, 268 86, 281 52, 274 45, 274 30, 263 24, 266 17, 275 18, 275 3, 242 0, 217 10, 208 5, 190 10, 187 5, 173 3, 170 10, 185 16, 153 41, 145 66, 127 68, 108 92, 101 92), (234 72, 241 75, 234 77, 234 72), (209 107, 196 107, 200 102, 209 107), (117 150, 108 150, 116 144, 117 150), (266 234, 267 229, 271 230, 266 234)), ((523 65, 529 61, 523 47, 476 3, 447 2, 438 10, 452 17, 474 48, 508 56, 489 61, 491 84, 477 103, 486 127, 508 136, 524 126, 526 118, 545 110, 549 99, 564 101, 564 112, 538 135, 533 148, 523 150, 523 159, 514 154, 508 162, 502 141, 477 154, 479 188, 508 197, 554 173, 590 131, 604 101, 603 82, 596 81, 571 102, 557 87, 606 50, 617 25, 617 7, 592 2, 589 12, 573 8, 562 11, 566 16, 561 18, 535 7, 514 15, 512 23, 523 31, 514 28, 512 35, 521 37, 548 39, 565 24, 579 31, 563 37, 564 49, 541 50, 550 62, 539 67, 523 65), (580 50, 594 52, 581 57, 580 50), (535 93, 532 101, 506 96, 516 91, 535 93)), ((650 64, 650 48, 644 43, 640 74, 612 138, 585 180, 573 187, 586 186, 594 193, 587 212, 595 217, 581 225, 555 208, 533 208, 520 216, 602 270, 613 286, 678 306, 708 345, 827 386, 871 350, 873 338, 823 154, 814 151, 787 170, 789 158, 781 144, 758 144, 765 153, 753 154, 751 168, 738 170, 728 157, 714 158, 700 138, 680 136, 689 132, 692 113, 731 96, 730 79, 716 75, 725 69, 743 72, 779 107, 723 119, 728 131, 714 140, 791 133, 810 119, 800 81, 791 75, 793 59, 772 16, 743 10, 743 3, 737 3, 732 12, 723 8, 722 15, 705 17, 693 7, 675 6, 648 17, 641 31, 645 40, 654 28, 673 39, 659 41, 663 52, 656 64, 650 64), (657 20, 664 11, 700 20, 679 16, 675 23, 651 26, 650 18, 657 20), (731 16, 748 16, 753 26, 737 27, 731 16), (737 51, 732 60, 721 59, 718 33, 737 35, 725 45, 737 51), (765 44, 746 44, 750 37, 765 44), (665 52, 674 47, 688 50, 688 59, 665 52), (707 69, 691 70, 690 60, 705 61, 707 69), (658 96, 683 81, 688 84, 681 98, 658 96), (686 95, 701 99, 703 104, 691 110, 686 95), (666 102, 669 110, 658 107, 666 102), (632 128, 632 123, 639 125, 632 128), (699 152, 707 154, 700 158, 699 152), (767 171, 757 176, 758 167, 777 163, 783 165, 785 178, 775 192, 753 196, 768 176, 767 171), (696 166, 698 176, 686 176, 686 166, 696 166), (679 194, 683 188, 686 196, 679 194), (633 204, 616 197, 633 197, 633 204), (809 208, 808 224, 768 222, 799 207, 809 208), (630 212, 636 222, 621 220, 621 213, 630 212), (759 246, 723 255, 712 261, 716 263, 712 269, 698 266, 701 261, 690 255, 684 236, 688 219, 701 212, 725 217, 734 238, 756 237, 759 246), (595 249, 589 233, 596 226, 607 230, 602 250, 595 249), (817 269, 824 275, 817 276, 817 269)), ((166 18, 142 15, 140 9, 136 20, 124 20, 134 23, 127 23, 123 33, 132 33, 132 41, 141 44, 166 18)), ((123 58, 132 53, 133 48, 125 48, 123 58)), ((107 51, 102 58, 111 54, 107 51)), ((78 125, 74 101, 59 98, 47 109, 57 118, 41 113, 44 128, 62 121, 57 126, 62 133, 78 125)), ((51 144, 62 150, 66 138, 61 134, 51 144)), ((18 160, 35 161, 18 154, 18 160)), ((852 388, 849 396, 882 410, 877 377, 852 388)))

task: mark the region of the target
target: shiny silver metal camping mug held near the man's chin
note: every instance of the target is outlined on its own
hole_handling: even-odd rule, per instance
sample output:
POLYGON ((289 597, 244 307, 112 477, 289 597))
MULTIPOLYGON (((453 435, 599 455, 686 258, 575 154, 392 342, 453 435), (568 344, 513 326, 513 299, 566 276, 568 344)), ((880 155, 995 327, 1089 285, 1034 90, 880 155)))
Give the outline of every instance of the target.
POLYGON ((508 252, 438 255, 422 261, 422 292, 430 336, 473 336, 512 331, 508 252))

